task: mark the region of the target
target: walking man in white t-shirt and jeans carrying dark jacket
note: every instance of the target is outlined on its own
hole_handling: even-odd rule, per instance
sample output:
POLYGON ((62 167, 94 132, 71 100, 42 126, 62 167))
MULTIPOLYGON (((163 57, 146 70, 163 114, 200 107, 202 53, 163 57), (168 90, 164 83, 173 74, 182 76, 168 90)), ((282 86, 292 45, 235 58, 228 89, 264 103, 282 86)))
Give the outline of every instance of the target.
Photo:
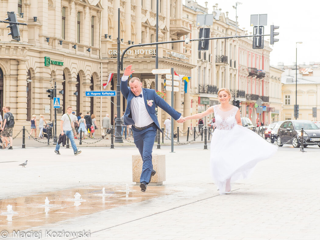
POLYGON ((60 138, 63 138, 64 134, 70 139, 74 154, 78 155, 79 153, 81 153, 81 151, 78 151, 78 149, 77 149, 74 135, 72 132, 72 129, 74 128, 74 122, 73 122, 74 115, 72 115, 71 112, 72 112, 72 107, 70 105, 68 105, 67 106, 67 113, 63 114, 61 117, 61 123, 60 123, 61 135, 59 136, 59 141, 56 145, 56 149, 54 150, 54 152, 58 155, 60 155, 59 148, 62 143, 60 141, 60 138))

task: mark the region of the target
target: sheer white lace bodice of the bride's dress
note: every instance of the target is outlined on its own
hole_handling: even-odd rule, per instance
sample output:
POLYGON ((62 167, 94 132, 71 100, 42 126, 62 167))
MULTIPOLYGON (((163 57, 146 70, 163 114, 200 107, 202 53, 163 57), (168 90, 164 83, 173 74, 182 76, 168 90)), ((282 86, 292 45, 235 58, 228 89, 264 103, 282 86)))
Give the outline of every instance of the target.
POLYGON ((239 108, 234 106, 230 111, 221 111, 219 105, 214 105, 214 116, 216 119, 217 129, 219 130, 231 130, 236 123, 236 113, 239 108))

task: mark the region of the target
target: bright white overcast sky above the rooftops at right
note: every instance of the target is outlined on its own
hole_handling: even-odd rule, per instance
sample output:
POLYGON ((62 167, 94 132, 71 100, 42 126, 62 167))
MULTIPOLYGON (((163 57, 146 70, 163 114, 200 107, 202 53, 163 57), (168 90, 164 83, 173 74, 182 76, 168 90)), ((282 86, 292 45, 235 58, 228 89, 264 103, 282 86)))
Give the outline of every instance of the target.
MULTIPOLYGON (((188 0, 184 0, 188 1, 188 0)), ((185 3, 183 1, 183 3, 185 3)), ((197 0, 198 4, 205 6, 208 2, 208 13, 212 13, 212 5, 218 4, 221 12, 229 12, 228 17, 236 20, 236 11, 232 7, 236 0, 197 0)), ((268 14, 265 34, 270 34, 270 25, 279 26, 280 33, 275 38, 279 39, 273 46, 270 54, 270 64, 277 65, 283 62, 291 65, 296 61, 296 42, 298 44, 298 64, 305 62, 320 62, 320 1, 282 1, 282 0, 240 0, 237 6, 238 24, 248 33, 253 31, 250 26, 251 14, 268 14)), ((265 36, 265 39, 270 39, 265 36)))

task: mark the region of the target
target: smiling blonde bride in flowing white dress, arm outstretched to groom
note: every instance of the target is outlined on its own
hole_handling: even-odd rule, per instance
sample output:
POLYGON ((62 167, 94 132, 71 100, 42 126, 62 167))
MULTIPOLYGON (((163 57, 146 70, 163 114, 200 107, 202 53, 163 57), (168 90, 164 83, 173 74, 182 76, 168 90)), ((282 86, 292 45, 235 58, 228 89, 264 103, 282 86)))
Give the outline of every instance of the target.
POLYGON ((230 182, 248 177, 254 166, 274 154, 277 147, 242 126, 239 108, 229 103, 231 93, 227 88, 218 91, 218 98, 221 104, 183 120, 214 113, 217 128, 210 144, 210 169, 220 194, 229 194, 230 182))

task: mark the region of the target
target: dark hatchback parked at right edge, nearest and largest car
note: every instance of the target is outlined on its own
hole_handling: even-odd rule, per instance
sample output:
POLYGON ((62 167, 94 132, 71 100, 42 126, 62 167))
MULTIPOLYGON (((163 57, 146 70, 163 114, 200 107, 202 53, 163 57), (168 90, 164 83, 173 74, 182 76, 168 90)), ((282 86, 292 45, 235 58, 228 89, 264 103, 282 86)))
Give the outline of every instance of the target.
POLYGON ((320 147, 320 129, 308 120, 288 120, 281 124, 277 134, 278 146, 291 143, 293 147, 299 148, 301 128, 303 128, 303 146, 318 145, 320 147))

